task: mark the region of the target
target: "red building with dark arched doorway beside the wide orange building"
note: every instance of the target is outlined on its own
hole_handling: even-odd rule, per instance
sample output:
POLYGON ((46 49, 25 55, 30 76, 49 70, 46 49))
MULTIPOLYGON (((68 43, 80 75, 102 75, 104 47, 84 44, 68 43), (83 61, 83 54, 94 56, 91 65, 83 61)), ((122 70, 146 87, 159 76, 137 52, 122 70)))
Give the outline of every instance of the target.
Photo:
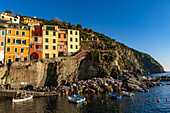
POLYGON ((34 26, 35 30, 32 31, 30 39, 30 58, 42 59, 42 27, 34 26))

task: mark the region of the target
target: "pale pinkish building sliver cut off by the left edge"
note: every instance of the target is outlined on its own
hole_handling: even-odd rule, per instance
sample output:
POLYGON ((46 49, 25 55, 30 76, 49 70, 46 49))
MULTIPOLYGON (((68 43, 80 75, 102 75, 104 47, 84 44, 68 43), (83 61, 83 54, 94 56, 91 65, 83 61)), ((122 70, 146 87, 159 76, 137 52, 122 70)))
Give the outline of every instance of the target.
POLYGON ((0 27, 0 65, 4 64, 5 28, 0 27))

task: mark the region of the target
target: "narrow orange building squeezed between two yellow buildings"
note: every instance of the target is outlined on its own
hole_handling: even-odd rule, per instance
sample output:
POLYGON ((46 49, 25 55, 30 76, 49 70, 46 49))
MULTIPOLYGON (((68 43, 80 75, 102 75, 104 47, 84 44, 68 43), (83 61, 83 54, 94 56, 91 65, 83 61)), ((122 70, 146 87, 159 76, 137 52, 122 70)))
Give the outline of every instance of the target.
POLYGON ((58 56, 67 55, 67 30, 60 29, 58 30, 58 44, 57 44, 58 56))

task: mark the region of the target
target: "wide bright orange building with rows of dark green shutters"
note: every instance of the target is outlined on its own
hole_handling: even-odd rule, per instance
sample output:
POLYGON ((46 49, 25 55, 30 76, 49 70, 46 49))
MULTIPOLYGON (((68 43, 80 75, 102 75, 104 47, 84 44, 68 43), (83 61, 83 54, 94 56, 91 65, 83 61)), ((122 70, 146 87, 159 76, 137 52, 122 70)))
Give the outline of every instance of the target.
POLYGON ((28 26, 10 25, 6 32, 5 62, 29 59, 30 30, 28 26))

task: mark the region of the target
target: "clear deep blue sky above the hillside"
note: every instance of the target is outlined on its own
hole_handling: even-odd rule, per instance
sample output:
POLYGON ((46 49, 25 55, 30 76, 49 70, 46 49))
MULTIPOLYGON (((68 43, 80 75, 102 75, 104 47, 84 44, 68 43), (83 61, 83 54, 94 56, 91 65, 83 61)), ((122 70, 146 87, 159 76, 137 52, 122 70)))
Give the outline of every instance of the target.
POLYGON ((170 0, 2 0, 0 12, 81 24, 151 55, 170 71, 170 0), (5 5, 6 4, 6 5, 5 5))

